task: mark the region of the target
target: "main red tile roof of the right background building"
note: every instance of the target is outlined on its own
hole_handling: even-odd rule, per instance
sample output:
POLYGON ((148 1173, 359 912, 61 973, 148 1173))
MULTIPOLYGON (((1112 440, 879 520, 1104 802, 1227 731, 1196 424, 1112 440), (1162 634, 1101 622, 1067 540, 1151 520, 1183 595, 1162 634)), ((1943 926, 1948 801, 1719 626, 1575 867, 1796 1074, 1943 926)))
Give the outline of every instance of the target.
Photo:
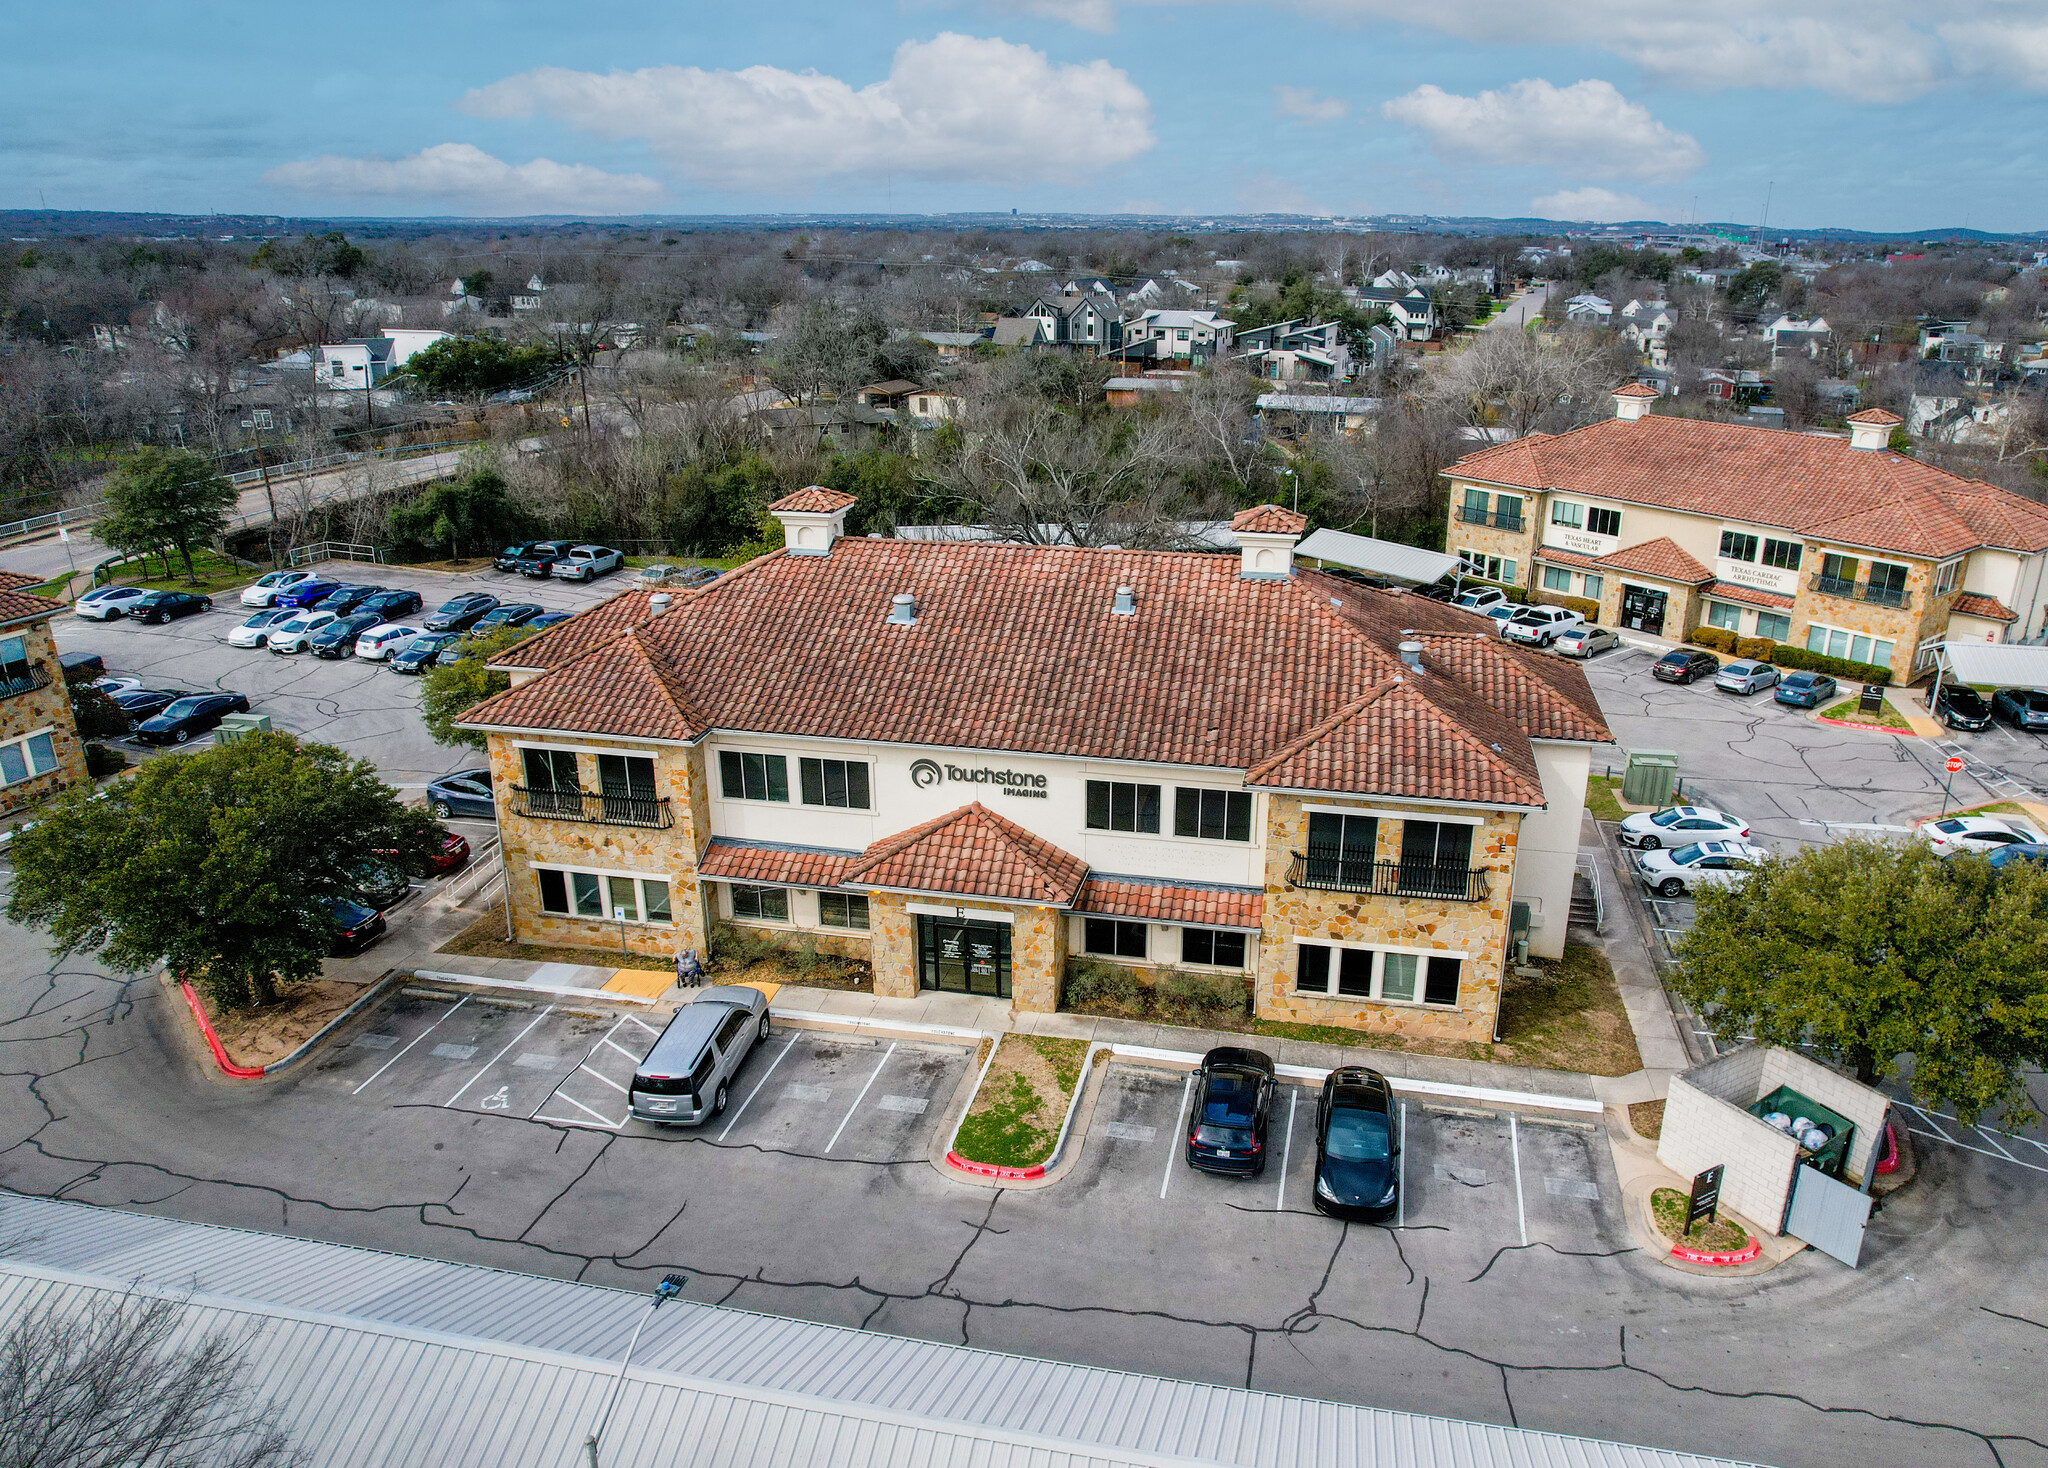
POLYGON ((1569 434, 1481 448, 1444 473, 1903 555, 1950 557, 1982 545, 2048 551, 2048 506, 1884 448, 1782 428, 1659 414, 1632 424, 1604 418, 1569 434))

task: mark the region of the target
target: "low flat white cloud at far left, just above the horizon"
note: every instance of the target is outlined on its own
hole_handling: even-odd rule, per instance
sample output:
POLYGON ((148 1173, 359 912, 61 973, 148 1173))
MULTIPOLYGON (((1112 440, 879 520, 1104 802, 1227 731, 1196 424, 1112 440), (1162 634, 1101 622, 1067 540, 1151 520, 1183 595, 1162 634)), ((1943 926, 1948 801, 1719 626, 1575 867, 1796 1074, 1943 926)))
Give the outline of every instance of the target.
POLYGON ((662 203, 645 174, 535 158, 508 164, 471 143, 438 143, 406 158, 307 158, 279 164, 266 184, 324 199, 416 199, 483 213, 631 213, 662 203))

